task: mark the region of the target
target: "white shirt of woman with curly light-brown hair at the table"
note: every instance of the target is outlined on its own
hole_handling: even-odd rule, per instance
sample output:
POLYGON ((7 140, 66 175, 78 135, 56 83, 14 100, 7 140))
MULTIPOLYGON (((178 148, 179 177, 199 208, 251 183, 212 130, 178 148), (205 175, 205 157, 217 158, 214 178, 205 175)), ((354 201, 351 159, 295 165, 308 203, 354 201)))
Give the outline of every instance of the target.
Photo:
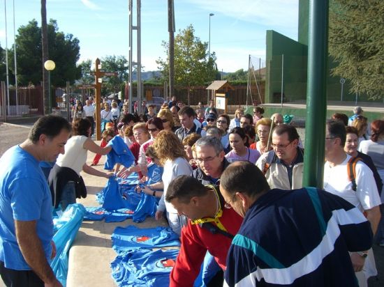
POLYGON ((168 185, 170 185, 170 182, 177 178, 177 176, 191 176, 191 173, 191 164, 189 164, 184 157, 177 157, 175 160, 167 160, 165 162, 162 176, 164 192, 158 202, 157 210, 164 211, 166 208, 170 213, 177 213, 177 210, 173 207, 173 205, 164 200, 165 194, 167 194, 168 185))

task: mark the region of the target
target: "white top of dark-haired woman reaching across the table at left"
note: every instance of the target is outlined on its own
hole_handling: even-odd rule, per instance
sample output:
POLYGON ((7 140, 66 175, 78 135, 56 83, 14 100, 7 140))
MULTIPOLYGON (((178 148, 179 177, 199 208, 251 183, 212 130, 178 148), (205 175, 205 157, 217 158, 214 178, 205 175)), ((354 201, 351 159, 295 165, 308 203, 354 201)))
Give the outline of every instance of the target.
POLYGON ((82 166, 87 162, 88 150, 83 147, 87 139, 85 136, 73 136, 71 139, 68 139, 64 146, 65 153, 57 157, 56 164, 58 166, 69 167, 80 176, 82 166))

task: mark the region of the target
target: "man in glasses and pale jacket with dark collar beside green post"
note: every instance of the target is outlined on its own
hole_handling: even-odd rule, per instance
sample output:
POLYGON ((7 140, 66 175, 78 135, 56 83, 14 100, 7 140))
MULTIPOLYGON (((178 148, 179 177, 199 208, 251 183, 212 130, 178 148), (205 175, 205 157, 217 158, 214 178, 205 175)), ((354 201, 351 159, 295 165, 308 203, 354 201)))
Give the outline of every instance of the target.
POLYGON ((272 188, 302 187, 304 150, 298 146, 299 134, 292 125, 278 125, 272 133, 272 148, 263 153, 256 166, 263 171, 272 188))

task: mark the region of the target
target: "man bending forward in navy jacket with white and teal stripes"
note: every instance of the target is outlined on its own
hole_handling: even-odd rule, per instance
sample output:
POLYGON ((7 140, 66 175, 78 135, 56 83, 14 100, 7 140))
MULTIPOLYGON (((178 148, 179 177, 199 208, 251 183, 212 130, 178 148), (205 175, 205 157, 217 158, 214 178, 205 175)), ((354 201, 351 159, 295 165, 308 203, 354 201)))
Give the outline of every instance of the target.
POLYGON ((220 192, 244 217, 224 286, 357 287, 348 251, 369 248, 372 233, 355 206, 314 187, 269 189, 249 162, 228 166, 220 192))

